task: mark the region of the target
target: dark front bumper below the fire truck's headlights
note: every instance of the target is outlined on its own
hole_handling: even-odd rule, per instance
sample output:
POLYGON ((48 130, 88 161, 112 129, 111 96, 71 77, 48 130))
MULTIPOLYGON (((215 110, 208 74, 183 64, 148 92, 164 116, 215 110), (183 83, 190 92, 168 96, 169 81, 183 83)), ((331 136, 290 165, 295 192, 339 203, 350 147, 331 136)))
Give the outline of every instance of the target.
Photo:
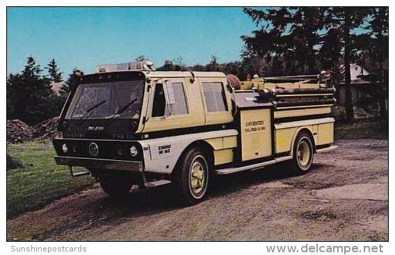
POLYGON ((106 160, 90 157, 54 156, 56 164, 70 167, 85 167, 86 169, 117 169, 124 171, 143 171, 143 162, 126 160, 106 160))

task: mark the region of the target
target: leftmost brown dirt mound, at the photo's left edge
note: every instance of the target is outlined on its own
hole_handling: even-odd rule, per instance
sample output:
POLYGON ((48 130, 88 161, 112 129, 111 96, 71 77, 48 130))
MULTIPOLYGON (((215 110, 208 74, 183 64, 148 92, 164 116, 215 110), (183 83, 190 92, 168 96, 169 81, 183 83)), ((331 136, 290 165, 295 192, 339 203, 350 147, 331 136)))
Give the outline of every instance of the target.
POLYGON ((23 121, 7 120, 7 141, 10 143, 23 143, 33 139, 32 128, 23 121))

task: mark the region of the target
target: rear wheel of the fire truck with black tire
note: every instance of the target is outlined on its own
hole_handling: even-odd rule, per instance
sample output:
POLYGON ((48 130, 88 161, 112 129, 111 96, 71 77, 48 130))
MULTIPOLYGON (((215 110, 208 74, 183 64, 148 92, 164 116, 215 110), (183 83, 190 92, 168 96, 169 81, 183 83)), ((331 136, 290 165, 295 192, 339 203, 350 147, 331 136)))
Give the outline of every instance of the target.
POLYGON ((300 132, 293 144, 292 168, 298 174, 307 173, 314 159, 314 139, 305 131, 300 132))

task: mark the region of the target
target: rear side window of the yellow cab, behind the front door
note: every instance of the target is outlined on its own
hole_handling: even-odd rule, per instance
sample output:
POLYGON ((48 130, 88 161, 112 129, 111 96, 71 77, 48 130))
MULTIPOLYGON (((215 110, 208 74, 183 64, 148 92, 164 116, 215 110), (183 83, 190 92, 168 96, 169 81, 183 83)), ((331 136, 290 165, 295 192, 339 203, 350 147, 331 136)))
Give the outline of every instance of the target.
POLYGON ((227 111, 222 82, 202 82, 204 101, 208 112, 227 111))

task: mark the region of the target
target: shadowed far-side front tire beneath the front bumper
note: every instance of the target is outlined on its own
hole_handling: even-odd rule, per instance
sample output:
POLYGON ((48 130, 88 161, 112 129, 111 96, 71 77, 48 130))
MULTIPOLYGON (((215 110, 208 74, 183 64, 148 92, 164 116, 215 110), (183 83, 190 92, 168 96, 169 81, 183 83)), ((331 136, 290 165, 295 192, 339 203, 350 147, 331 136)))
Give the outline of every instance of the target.
POLYGON ((106 174, 99 177, 100 187, 106 194, 114 197, 123 197, 129 194, 133 182, 130 178, 124 178, 116 173, 106 174))

